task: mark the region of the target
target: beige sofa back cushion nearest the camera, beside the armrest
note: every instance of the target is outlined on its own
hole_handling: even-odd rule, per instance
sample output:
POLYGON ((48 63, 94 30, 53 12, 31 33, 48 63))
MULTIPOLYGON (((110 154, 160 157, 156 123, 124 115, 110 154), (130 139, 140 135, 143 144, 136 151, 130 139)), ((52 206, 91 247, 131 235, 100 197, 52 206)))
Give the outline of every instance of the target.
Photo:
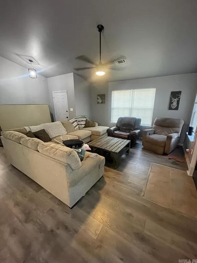
POLYGON ((44 155, 62 161, 70 166, 72 170, 81 167, 78 154, 71 148, 54 143, 42 143, 38 145, 38 151, 44 155))

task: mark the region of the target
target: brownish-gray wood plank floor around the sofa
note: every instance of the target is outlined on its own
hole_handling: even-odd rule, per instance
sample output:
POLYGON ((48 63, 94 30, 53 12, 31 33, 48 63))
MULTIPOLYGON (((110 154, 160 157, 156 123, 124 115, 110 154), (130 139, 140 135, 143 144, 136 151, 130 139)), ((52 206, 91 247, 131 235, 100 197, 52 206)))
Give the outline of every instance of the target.
POLYGON ((186 170, 139 142, 70 209, 8 164, 0 147, 0 262, 197 259, 197 221, 141 197, 152 162, 186 170))

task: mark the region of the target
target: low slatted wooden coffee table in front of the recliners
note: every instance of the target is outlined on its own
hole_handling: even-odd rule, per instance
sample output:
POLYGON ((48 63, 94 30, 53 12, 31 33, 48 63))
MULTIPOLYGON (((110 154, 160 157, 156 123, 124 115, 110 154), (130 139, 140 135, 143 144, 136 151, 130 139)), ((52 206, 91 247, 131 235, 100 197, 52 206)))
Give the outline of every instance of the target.
POLYGON ((93 152, 99 152, 100 155, 105 152, 110 152, 113 158, 115 168, 119 165, 119 159, 124 154, 129 154, 130 140, 123 140, 109 136, 101 136, 100 138, 89 143, 93 152))

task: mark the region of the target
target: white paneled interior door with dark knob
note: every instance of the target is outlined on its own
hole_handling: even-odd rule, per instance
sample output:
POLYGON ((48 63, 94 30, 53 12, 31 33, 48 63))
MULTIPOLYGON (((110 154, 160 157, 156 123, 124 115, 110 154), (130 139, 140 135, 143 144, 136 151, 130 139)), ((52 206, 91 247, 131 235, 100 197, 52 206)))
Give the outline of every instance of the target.
POLYGON ((53 91, 55 120, 64 121, 69 119, 67 91, 53 91))

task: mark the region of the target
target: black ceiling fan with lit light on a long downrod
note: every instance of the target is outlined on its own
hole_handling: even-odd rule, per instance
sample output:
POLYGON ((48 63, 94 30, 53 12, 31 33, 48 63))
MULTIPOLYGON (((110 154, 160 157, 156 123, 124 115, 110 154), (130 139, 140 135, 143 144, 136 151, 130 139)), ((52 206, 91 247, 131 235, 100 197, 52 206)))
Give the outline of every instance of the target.
POLYGON ((93 61, 91 61, 88 57, 82 55, 82 56, 78 56, 76 57, 76 59, 78 60, 82 60, 84 62, 87 62, 87 63, 90 63, 92 65, 94 65, 94 67, 84 67, 84 68, 74 68, 74 70, 84 70, 84 69, 96 69, 96 74, 98 76, 103 76, 105 75, 105 69, 112 69, 112 70, 124 70, 123 68, 122 69, 116 69, 116 68, 111 68, 111 67, 108 67, 110 66, 111 64, 113 64, 115 61, 117 60, 121 60, 123 58, 125 58, 124 56, 121 56, 121 57, 118 57, 116 59, 112 59, 110 61, 108 61, 107 63, 102 63, 101 61, 101 32, 103 31, 104 27, 103 25, 98 25, 97 26, 97 30, 99 32, 99 54, 100 54, 100 61, 98 64, 94 63, 93 61))

